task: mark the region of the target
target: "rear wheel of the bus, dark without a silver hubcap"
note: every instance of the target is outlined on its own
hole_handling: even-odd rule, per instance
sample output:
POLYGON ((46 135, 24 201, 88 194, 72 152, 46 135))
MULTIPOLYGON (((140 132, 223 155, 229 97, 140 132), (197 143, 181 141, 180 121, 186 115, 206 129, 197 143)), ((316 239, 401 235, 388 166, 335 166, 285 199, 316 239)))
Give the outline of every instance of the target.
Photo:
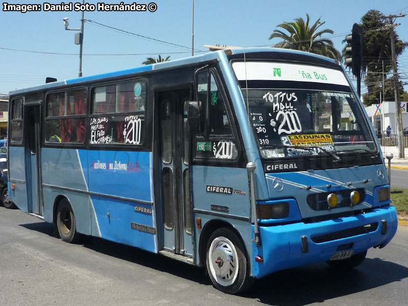
POLYGON ((78 240, 77 220, 67 199, 61 200, 57 209, 57 228, 62 240, 73 243, 78 240))

